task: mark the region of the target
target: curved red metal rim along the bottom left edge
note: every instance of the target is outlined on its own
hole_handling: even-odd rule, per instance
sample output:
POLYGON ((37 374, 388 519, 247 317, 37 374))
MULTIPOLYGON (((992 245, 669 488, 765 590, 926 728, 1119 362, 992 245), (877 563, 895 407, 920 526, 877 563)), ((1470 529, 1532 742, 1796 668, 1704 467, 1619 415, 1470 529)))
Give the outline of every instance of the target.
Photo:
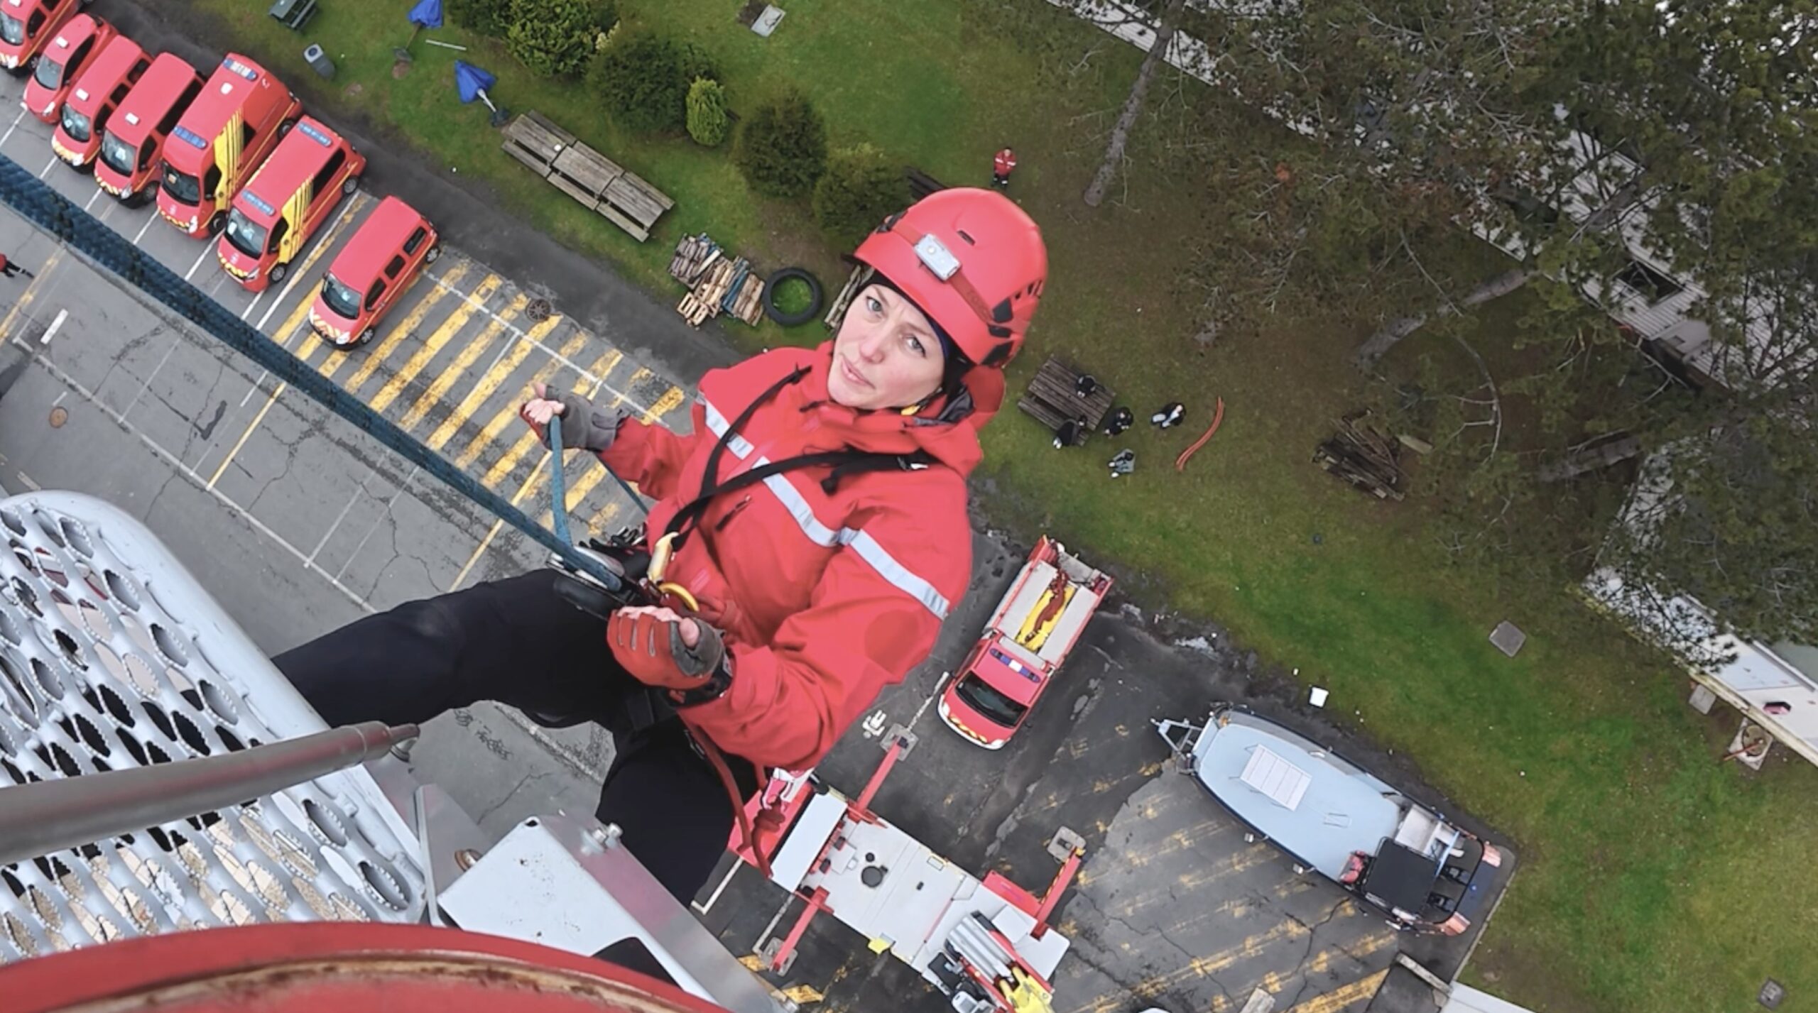
POLYGON ((0 968, 7 1013, 724 1013, 604 960, 509 938, 358 922, 205 929, 0 968))

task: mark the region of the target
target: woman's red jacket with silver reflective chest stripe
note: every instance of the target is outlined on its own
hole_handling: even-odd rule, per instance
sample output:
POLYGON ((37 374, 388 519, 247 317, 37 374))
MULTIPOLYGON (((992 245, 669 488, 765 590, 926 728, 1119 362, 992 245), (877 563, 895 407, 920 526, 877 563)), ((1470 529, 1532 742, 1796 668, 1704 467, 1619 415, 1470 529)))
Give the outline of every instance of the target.
POLYGON ((978 464, 978 427, 1004 398, 1002 375, 969 378, 976 409, 960 422, 854 411, 827 400, 833 346, 776 349, 700 382, 694 433, 625 420, 600 458, 656 496, 651 542, 693 500, 707 455, 731 420, 798 366, 740 427, 720 480, 762 462, 862 449, 925 451, 918 471, 845 476, 822 489, 829 467, 787 471, 714 500, 669 562, 665 580, 687 587, 702 617, 725 633, 733 686, 689 707, 689 720, 727 753, 765 767, 805 769, 878 693, 927 658, 949 607, 965 593, 973 535, 965 475, 978 464))

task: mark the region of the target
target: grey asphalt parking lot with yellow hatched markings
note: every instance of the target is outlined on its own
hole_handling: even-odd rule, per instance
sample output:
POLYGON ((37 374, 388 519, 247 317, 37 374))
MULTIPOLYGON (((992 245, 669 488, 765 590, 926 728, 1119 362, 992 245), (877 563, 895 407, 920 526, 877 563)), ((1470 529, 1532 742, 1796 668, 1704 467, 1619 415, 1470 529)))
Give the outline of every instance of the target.
MULTIPOLYGON (((96 4, 107 16, 116 9, 122 24, 144 18, 136 5, 96 4)), ((16 107, 20 93, 20 80, 0 76, 0 107, 16 107)), ((56 162, 47 136, 29 116, 0 116, 0 156, 520 506, 549 495, 545 451, 514 422, 531 382, 687 426, 698 369, 676 364, 704 362, 689 346, 698 338, 651 300, 636 313, 596 311, 580 295, 596 266, 556 260, 564 255, 536 236, 513 246, 509 226, 484 209, 476 216, 493 215, 484 242, 471 222, 453 220, 447 255, 371 347, 333 351, 309 333, 304 315, 322 271, 378 196, 407 191, 425 209, 460 207, 467 195, 445 180, 375 158, 369 189, 336 207, 282 286, 255 296, 218 267, 213 240, 180 236, 151 207, 118 206, 56 162)), ((280 651, 364 611, 538 564, 542 553, 514 531, 5 211, 0 251, 36 271, 0 287, 0 362, 13 364, 0 396, 0 482, 129 506, 260 646, 280 651)), ((1000 422, 1013 424, 1027 420, 1000 422)), ((571 460, 567 478, 576 529, 634 518, 593 462, 571 460)), ((909 726, 918 744, 873 807, 973 873, 998 869, 1034 891, 1056 868, 1045 849, 1053 833, 1065 826, 1085 838, 1087 864, 1058 911, 1073 949, 1056 975, 1056 1011, 1234 1013, 1262 989, 1273 1009, 1360 1013, 1403 948, 1442 977, 1456 973, 1474 933, 1434 942, 1389 931, 1336 886, 1247 844, 1169 769, 1149 722, 1202 718, 1213 700, 1254 698, 1300 720, 1298 731, 1336 735, 1265 691, 1265 673, 1242 651, 1178 647, 1144 617, 1107 611, 1007 749, 987 753, 942 727, 929 702, 1022 562, 987 535, 974 538, 974 557, 973 593, 934 658, 878 700, 876 727, 909 726)), ((854 793, 880 758, 876 738, 854 729, 820 773, 854 793)), ((436 722, 416 757, 493 833, 553 807, 589 809, 609 760, 596 729, 533 733, 489 706, 436 722)), ((751 953, 787 898, 751 869, 724 871, 700 898, 702 917, 734 953, 751 953)), ((831 917, 800 953, 778 984, 820 1009, 947 1008, 831 917)))

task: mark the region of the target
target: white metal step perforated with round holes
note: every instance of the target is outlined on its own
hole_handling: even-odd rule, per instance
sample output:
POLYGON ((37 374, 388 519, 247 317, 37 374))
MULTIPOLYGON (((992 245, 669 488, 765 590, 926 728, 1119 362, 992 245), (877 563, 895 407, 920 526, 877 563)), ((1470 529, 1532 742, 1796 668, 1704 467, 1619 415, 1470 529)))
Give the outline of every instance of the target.
MULTIPOLYGON (((145 529, 75 493, 0 500, 0 780, 244 749, 324 724, 145 529)), ((204 926, 416 922, 424 873, 364 769, 0 868, 0 964, 204 926)))

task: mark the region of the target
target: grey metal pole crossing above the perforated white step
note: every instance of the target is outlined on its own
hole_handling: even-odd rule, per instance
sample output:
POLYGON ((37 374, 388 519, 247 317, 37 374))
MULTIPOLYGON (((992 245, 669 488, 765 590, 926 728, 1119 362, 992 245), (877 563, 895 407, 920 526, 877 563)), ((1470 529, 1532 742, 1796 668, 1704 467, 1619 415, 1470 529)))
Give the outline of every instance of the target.
POLYGON ((0 787, 0 866, 271 795, 416 735, 415 724, 371 720, 220 757, 0 787))

